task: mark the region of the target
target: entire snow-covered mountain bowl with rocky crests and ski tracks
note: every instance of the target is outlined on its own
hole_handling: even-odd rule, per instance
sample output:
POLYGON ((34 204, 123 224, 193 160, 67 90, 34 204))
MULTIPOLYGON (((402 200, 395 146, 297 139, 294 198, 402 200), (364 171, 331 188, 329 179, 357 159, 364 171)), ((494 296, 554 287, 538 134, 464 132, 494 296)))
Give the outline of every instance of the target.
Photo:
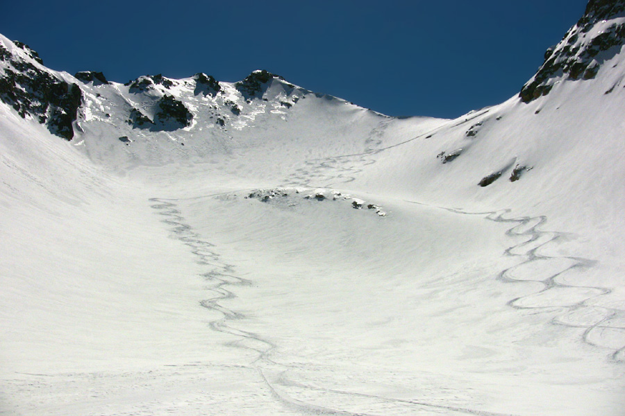
POLYGON ((624 28, 453 120, 0 36, 0 414, 623 415, 624 28))

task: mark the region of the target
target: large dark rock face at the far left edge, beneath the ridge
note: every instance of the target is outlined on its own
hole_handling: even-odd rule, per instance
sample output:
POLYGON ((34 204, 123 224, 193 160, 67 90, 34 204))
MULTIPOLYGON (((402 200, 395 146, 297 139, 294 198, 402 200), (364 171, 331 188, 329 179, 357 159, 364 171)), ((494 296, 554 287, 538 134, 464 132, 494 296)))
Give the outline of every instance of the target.
MULTIPOLYGON (((15 44, 36 62, 42 62, 39 55, 28 46, 21 42, 15 44)), ((54 135, 72 140, 73 123, 83 98, 80 87, 53 76, 19 56, 13 56, 1 45, 0 59, 3 61, 0 99, 13 107, 22 118, 32 116, 47 125, 54 135)))

